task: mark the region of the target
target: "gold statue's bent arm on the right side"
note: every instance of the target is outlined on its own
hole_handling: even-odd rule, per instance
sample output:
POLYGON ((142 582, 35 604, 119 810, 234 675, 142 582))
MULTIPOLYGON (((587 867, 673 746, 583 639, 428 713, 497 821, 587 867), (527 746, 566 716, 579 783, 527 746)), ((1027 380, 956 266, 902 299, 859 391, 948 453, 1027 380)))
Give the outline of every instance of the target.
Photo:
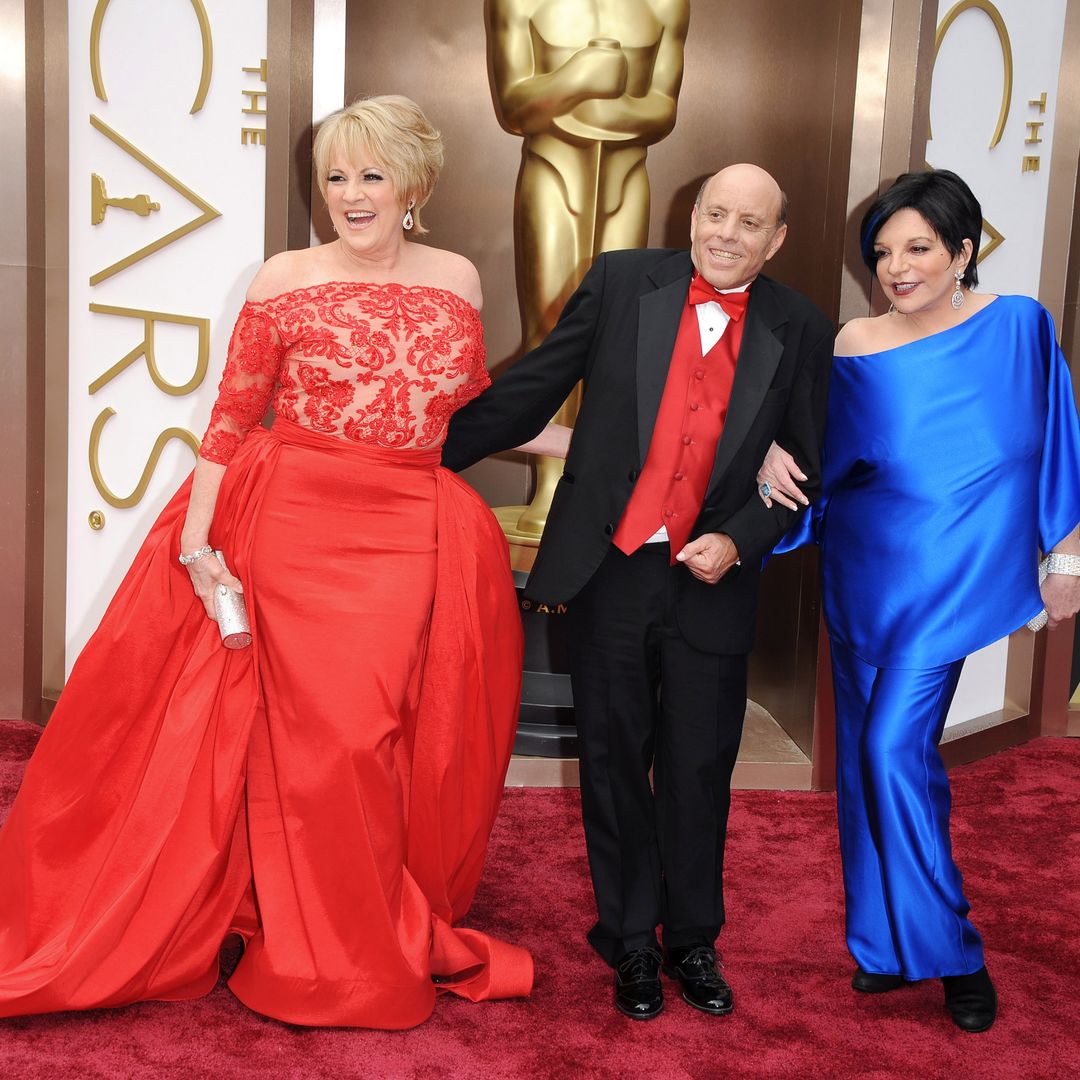
POLYGON ((683 83, 683 52, 690 25, 688 0, 653 0, 653 13, 663 25, 648 91, 636 87, 610 100, 590 99, 573 110, 573 118, 592 127, 632 135, 635 143, 659 143, 675 126, 676 102, 683 83))

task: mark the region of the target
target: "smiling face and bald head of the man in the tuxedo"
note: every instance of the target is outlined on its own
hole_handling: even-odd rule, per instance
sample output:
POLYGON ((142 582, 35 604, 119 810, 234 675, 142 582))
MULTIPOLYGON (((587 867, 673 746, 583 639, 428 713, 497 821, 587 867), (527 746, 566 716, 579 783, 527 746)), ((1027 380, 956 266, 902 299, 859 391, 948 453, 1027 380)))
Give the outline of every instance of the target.
POLYGON ((705 185, 690 212, 690 258, 714 288, 752 282, 780 251, 783 195, 757 165, 730 165, 705 185))

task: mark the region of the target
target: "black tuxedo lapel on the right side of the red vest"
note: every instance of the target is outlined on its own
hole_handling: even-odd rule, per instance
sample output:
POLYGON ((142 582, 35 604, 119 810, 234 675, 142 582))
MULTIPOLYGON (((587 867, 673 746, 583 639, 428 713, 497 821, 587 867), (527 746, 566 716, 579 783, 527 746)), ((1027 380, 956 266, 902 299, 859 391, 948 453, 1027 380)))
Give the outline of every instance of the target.
MULTIPOLYGON (((772 384, 772 377, 777 374, 784 351, 773 330, 786 322, 787 315, 777 302, 768 280, 758 279, 751 286, 746 328, 739 346, 728 415, 716 447, 713 474, 708 481, 710 490, 731 464, 761 408, 761 402, 772 384)), ((706 499, 707 497, 706 494, 706 499)))

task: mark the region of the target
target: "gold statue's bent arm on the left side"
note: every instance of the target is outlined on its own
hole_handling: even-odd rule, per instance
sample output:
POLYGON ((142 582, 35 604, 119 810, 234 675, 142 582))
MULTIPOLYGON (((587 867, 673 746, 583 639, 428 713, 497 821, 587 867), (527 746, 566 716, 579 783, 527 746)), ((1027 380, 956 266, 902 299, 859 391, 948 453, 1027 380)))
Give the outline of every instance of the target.
POLYGON ((624 93, 626 57, 618 49, 586 45, 550 73, 521 76, 534 70, 527 5, 488 0, 488 12, 495 92, 511 131, 539 134, 584 102, 624 93))

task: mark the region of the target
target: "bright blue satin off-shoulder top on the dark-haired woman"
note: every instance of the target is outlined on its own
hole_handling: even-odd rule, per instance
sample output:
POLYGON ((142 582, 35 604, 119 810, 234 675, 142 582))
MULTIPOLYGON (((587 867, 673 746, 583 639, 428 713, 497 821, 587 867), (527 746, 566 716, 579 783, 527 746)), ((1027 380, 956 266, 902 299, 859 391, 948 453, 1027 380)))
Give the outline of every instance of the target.
POLYGON ((1041 611, 1038 554, 1078 522, 1080 420, 1053 320, 1000 296, 835 357, 822 498, 777 551, 818 540, 829 634, 862 660, 932 667, 1041 611))

